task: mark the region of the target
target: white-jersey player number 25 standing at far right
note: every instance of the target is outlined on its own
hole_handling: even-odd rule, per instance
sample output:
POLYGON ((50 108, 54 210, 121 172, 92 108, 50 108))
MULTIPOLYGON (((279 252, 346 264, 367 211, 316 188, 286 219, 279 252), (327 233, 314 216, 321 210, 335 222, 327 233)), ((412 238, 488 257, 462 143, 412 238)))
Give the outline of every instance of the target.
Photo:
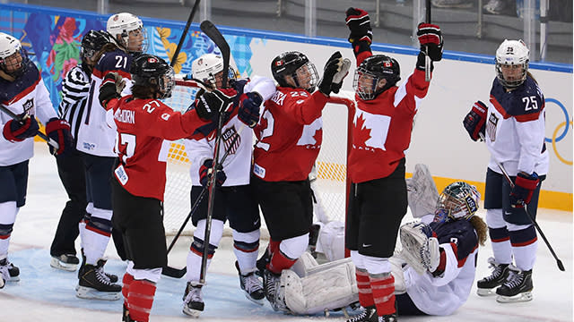
POLYGON ((544 95, 528 72, 529 50, 522 40, 504 40, 496 51, 496 78, 490 100, 474 103, 463 121, 472 140, 486 137, 491 160, 484 208, 494 258, 492 274, 478 281, 478 294, 497 301, 531 301, 532 269, 538 242, 535 226, 541 182, 548 173, 544 143, 544 95), (506 169, 510 187, 501 167, 506 169), (512 263, 514 259, 514 264, 512 263))

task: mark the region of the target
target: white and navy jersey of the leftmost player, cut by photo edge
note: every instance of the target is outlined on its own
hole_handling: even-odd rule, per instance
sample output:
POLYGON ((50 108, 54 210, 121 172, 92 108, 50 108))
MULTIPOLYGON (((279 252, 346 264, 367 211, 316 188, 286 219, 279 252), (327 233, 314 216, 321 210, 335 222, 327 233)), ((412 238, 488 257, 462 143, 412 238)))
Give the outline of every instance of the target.
MULTIPOLYGON (((44 85, 38 68, 28 60, 26 71, 15 81, 0 78, 0 104, 14 114, 28 111, 41 123, 48 123, 52 117, 57 117, 52 106, 48 89, 44 85)), ((0 112, 0 125, 12 120, 8 114, 0 112)), ((0 166, 15 165, 30 159, 34 155, 34 139, 28 138, 22 142, 10 142, 0 135, 0 166)))

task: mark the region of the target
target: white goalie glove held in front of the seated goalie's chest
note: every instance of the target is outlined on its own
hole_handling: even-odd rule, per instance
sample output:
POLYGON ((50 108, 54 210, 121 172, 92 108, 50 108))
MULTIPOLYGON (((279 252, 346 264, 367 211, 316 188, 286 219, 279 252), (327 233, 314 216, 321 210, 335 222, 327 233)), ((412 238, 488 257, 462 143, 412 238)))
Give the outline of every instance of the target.
POLYGON ((401 226, 401 256, 420 275, 434 272, 440 263, 439 240, 429 225, 413 222, 401 226))

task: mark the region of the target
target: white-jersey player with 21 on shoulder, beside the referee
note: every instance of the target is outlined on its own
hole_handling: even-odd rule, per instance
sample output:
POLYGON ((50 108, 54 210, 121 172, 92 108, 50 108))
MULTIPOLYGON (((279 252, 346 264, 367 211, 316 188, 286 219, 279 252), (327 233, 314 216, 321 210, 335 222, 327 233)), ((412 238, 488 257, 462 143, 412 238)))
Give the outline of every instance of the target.
POLYGON ((113 43, 102 47, 98 64, 91 73, 88 106, 76 138, 76 148, 83 152, 88 200, 86 215, 80 223, 83 263, 78 270, 76 295, 87 299, 119 300, 121 286, 114 284, 117 276, 106 275, 103 270, 110 235, 113 236, 117 254, 126 259, 121 234, 114 232, 111 224, 110 178, 117 157, 114 151, 117 131, 112 113, 100 104, 99 89, 102 83, 115 81, 111 76, 115 72, 124 80, 125 87, 120 92, 123 95, 131 93, 129 68, 134 55, 141 54, 147 47, 147 38, 142 21, 131 13, 111 15, 106 30, 113 43))

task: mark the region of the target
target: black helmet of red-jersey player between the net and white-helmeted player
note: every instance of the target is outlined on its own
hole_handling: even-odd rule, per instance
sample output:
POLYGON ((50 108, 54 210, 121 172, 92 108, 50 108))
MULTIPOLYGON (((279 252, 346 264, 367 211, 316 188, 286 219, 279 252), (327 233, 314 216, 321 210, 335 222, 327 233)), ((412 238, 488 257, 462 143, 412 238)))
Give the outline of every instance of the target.
POLYGON ((309 62, 309 58, 300 52, 285 52, 276 56, 271 62, 271 72, 281 87, 306 89, 311 93, 317 86, 315 64, 309 62))

